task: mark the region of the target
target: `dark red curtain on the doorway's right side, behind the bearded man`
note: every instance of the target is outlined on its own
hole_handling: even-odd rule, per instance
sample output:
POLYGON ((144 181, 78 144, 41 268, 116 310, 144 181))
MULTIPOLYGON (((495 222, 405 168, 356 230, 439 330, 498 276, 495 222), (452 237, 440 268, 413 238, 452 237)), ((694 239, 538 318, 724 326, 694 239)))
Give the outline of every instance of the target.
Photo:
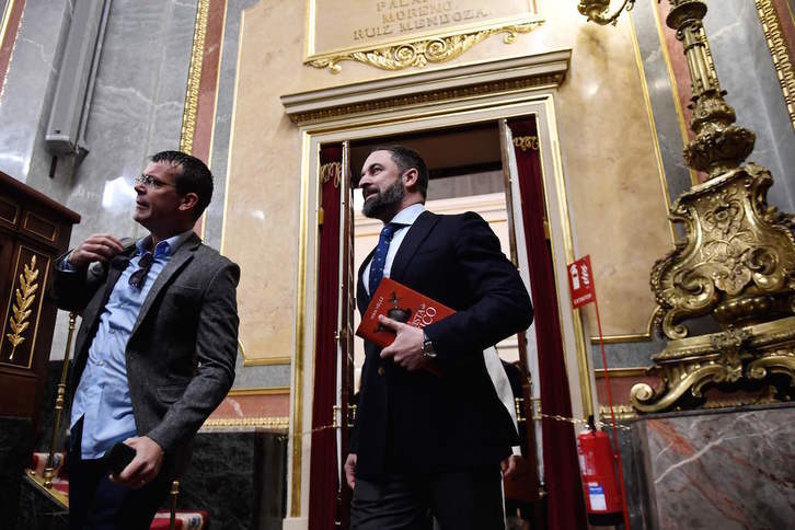
MULTIPOLYGON (((530 264, 530 286, 535 309, 541 412, 572 417, 563 338, 557 316, 557 295, 552 252, 544 233, 544 187, 535 119, 508 122, 519 170, 521 214, 530 264)), ((574 426, 542 418, 548 527, 553 530, 588 528, 579 479, 574 426)))

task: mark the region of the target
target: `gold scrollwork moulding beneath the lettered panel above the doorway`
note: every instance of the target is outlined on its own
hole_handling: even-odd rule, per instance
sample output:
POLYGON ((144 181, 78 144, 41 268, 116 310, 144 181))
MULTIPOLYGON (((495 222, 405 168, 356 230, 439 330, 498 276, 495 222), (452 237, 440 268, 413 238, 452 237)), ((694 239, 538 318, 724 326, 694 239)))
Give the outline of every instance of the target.
POLYGON ((530 33, 541 26, 543 21, 527 22, 503 27, 494 27, 473 33, 439 36, 424 41, 415 41, 393 46, 384 46, 371 50, 352 51, 348 54, 321 57, 308 61, 315 68, 329 68, 332 73, 339 73, 339 62, 355 60, 375 66, 381 70, 403 70, 408 67, 423 68, 428 62, 445 62, 459 57, 486 37, 505 34, 503 42, 514 44, 519 33, 530 33))

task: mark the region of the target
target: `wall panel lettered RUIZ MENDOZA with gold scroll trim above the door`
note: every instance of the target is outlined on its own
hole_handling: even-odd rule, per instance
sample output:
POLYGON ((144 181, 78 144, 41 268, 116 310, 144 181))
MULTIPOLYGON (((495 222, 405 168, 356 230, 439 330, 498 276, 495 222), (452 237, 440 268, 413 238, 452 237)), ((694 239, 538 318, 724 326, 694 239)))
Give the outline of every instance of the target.
POLYGON ((304 64, 333 73, 343 60, 422 68, 497 33, 511 44, 541 22, 535 0, 309 0, 304 64))

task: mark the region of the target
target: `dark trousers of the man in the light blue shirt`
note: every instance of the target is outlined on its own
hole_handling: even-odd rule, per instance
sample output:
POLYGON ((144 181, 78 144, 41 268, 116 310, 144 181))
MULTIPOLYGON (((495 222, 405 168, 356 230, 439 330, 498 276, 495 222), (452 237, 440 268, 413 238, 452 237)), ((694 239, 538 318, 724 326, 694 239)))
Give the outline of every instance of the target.
POLYGON ((69 448, 69 528, 72 530, 146 530, 169 495, 172 475, 163 465, 158 477, 139 489, 111 482, 104 459, 80 458, 82 420, 69 448))

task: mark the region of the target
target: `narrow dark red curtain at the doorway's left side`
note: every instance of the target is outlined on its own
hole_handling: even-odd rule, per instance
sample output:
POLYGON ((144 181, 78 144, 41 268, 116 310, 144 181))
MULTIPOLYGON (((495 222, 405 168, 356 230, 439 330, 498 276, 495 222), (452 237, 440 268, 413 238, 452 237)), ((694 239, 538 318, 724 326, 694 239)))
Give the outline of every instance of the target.
POLYGON ((309 480, 309 528, 329 530, 337 519, 336 404, 337 327, 339 284, 339 178, 342 146, 321 148, 321 206, 323 223, 319 229, 320 270, 318 277, 318 325, 314 356, 314 401, 312 403, 312 452, 309 480), (325 428, 323 428, 325 427, 325 428), (315 430, 318 429, 318 430, 315 430))

